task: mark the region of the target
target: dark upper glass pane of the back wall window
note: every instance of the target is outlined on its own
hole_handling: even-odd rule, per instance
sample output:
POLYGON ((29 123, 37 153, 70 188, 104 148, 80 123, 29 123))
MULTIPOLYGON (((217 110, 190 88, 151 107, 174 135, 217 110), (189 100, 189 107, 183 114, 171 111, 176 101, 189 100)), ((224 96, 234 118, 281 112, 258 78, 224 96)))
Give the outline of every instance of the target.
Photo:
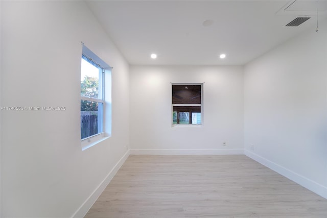
POLYGON ((173 85, 173 104, 201 104, 201 85, 173 85))

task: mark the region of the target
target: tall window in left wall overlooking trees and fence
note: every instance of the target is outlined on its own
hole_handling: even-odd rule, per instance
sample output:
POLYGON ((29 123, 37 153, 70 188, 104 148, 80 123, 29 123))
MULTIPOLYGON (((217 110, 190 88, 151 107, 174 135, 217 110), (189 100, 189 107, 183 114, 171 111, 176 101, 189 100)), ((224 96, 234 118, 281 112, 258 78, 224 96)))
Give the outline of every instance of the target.
POLYGON ((82 148, 89 148, 98 139, 107 136, 108 134, 105 133, 108 131, 105 131, 105 127, 110 129, 111 132, 111 78, 109 84, 106 84, 106 88, 109 86, 110 90, 105 89, 105 82, 108 81, 105 75, 111 76, 110 70, 109 65, 87 49, 86 46, 83 46, 81 58, 82 148), (110 74, 107 74, 108 71, 110 71, 110 74), (109 117, 110 124, 105 125, 105 117, 109 117), (85 143, 91 143, 91 145, 85 143))

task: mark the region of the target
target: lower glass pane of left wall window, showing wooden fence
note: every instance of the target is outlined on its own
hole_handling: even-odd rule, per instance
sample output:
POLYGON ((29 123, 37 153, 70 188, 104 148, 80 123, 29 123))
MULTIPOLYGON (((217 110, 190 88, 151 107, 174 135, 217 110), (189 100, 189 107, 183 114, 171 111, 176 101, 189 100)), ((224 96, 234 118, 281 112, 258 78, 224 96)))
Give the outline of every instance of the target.
POLYGON ((103 132, 103 103, 81 100, 81 139, 103 132))

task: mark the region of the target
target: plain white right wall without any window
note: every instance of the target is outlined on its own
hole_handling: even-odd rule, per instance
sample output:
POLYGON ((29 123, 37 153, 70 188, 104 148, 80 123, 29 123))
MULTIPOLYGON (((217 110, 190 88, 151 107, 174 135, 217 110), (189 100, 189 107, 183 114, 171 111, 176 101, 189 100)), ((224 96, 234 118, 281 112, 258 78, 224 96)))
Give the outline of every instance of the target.
POLYGON ((319 29, 245 66, 244 146, 250 157, 327 198, 326 23, 319 29))

